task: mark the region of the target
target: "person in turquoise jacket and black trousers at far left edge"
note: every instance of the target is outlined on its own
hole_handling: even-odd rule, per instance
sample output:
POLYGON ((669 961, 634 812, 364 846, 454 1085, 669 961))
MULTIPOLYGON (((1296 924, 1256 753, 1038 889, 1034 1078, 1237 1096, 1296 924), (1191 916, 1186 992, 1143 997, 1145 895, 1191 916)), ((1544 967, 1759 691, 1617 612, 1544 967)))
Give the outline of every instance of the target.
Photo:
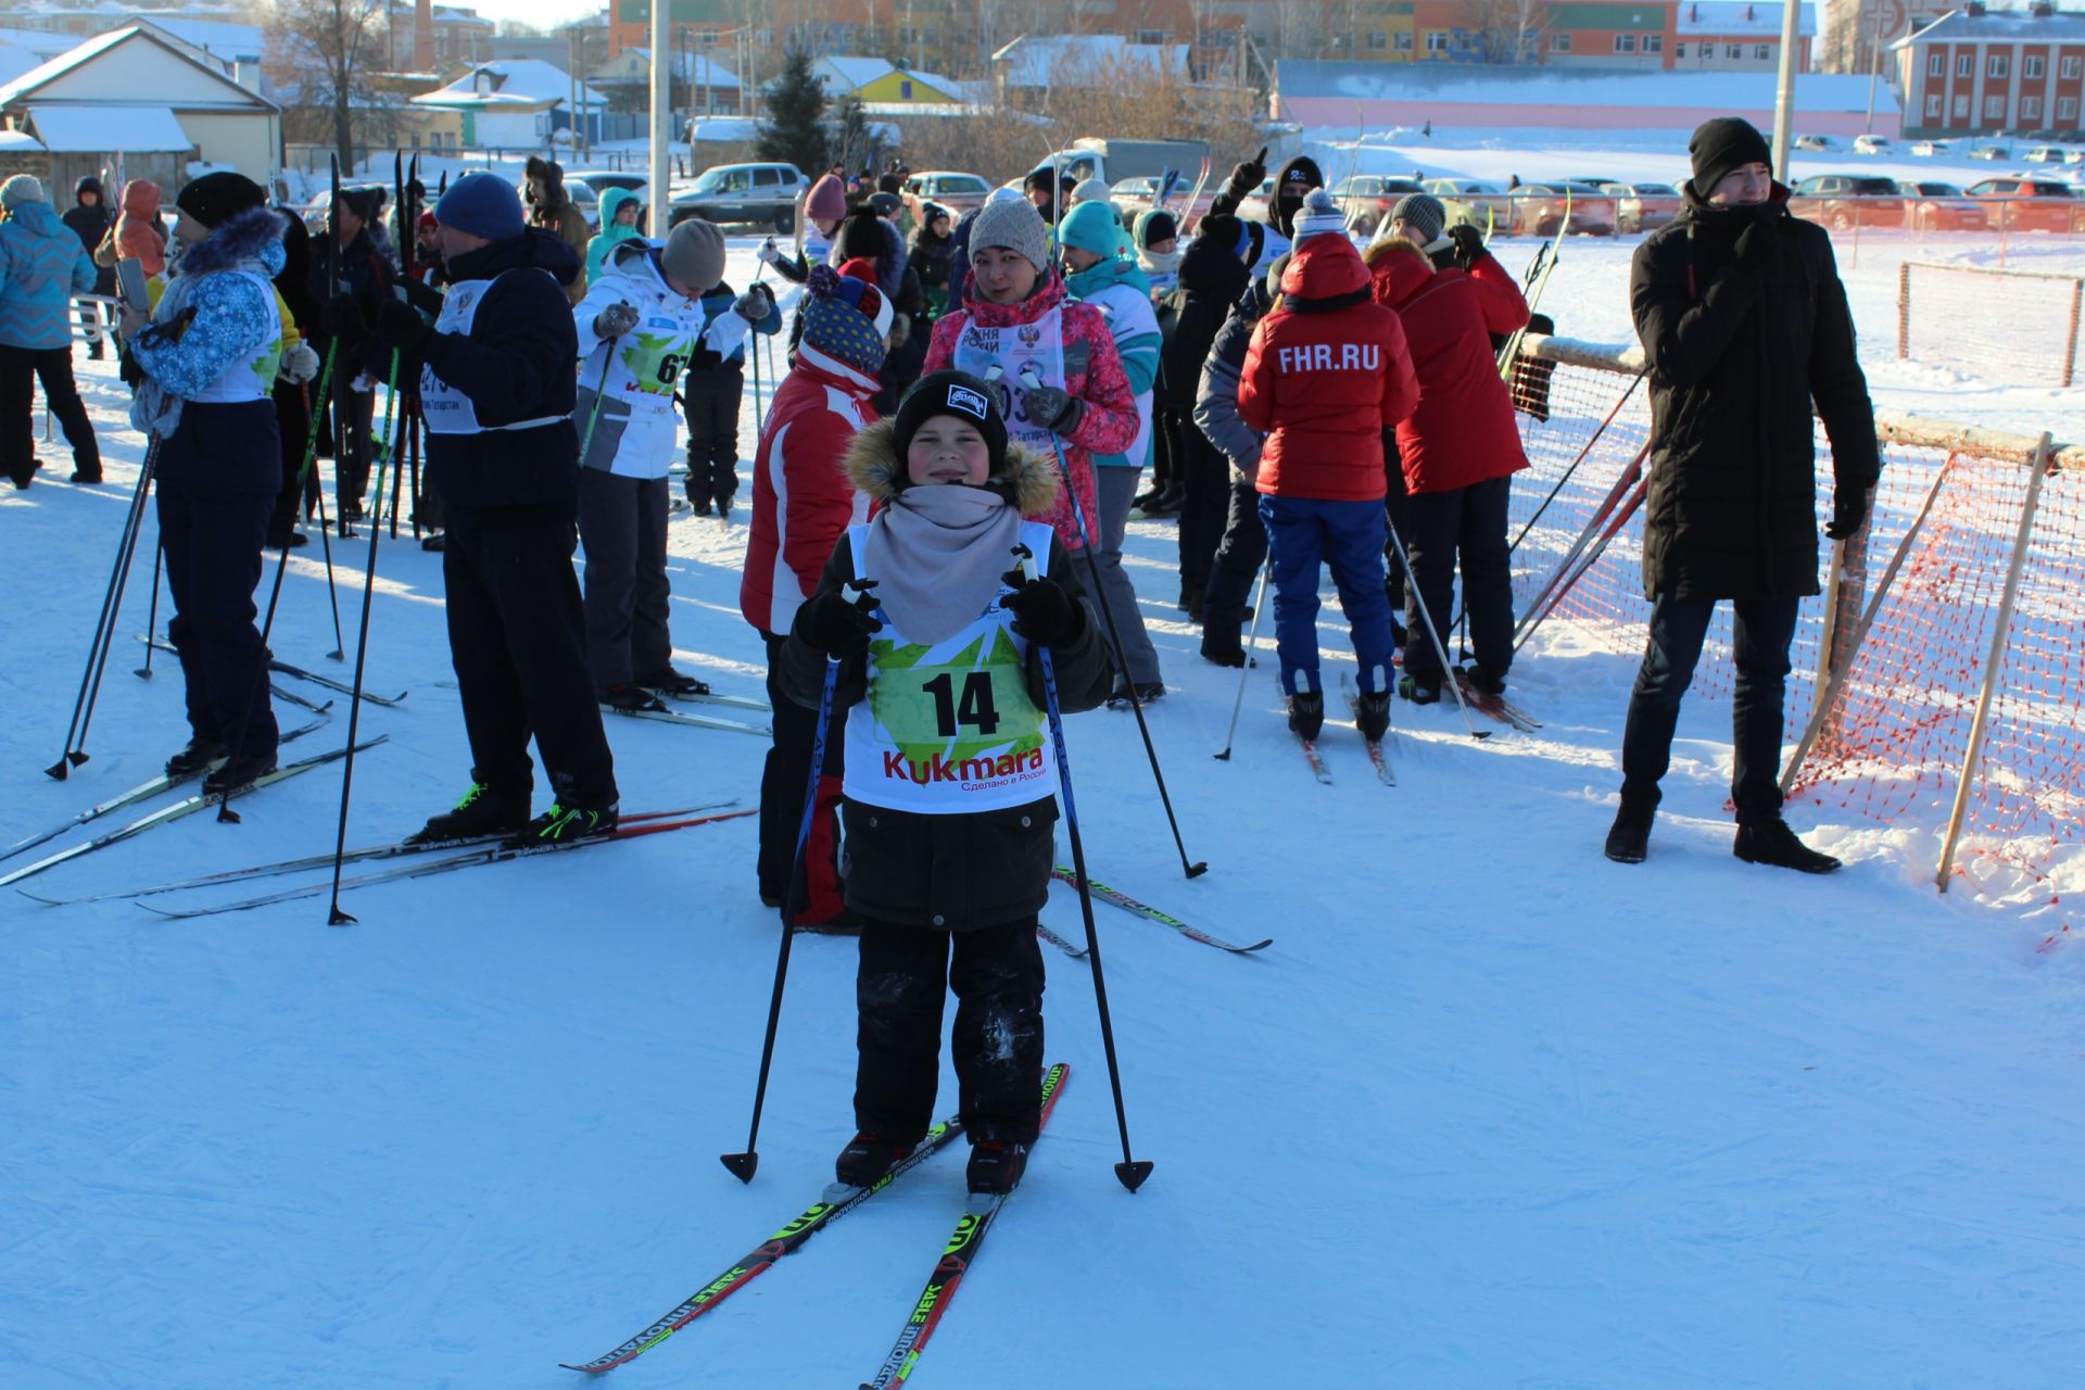
POLYGON ((35 473, 35 381, 73 446, 73 481, 102 481, 102 450, 73 383, 73 296, 94 290, 94 256, 50 202, 17 173, 0 183, 0 473, 27 488, 35 473))

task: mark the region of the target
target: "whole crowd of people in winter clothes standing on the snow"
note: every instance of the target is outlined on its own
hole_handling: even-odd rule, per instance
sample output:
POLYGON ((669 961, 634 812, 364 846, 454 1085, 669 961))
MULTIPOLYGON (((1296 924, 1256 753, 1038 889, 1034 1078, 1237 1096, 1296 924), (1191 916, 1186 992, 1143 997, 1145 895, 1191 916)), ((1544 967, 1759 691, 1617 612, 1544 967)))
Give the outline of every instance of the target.
MULTIPOLYGON (((1178 215, 1124 223, 1105 188, 1051 167, 961 219, 924 204, 909 240, 899 175, 851 200, 830 173, 796 244, 759 248, 803 288, 786 340, 765 283, 726 283, 713 225, 646 235, 636 200, 611 194, 596 233, 544 160, 525 202, 467 175, 396 231, 344 192, 317 250, 259 185, 213 173, 175 198, 177 256, 152 231, 150 185, 127 188, 111 225, 83 181, 60 223, 17 177, 0 185, 0 446, 25 486, 17 402, 50 363, 77 471, 98 477, 77 394, 60 404, 67 300, 100 283, 104 242, 146 260, 156 298, 121 338, 188 686, 192 740, 169 769, 229 788, 273 767, 252 592, 263 544, 292 544, 313 486, 300 442, 319 352, 348 381, 344 521, 379 448, 375 386, 409 392, 471 750, 469 790, 415 840, 561 844, 617 827, 603 711, 707 694, 671 665, 669 463, 686 427, 688 502, 730 515, 749 344, 786 342, 740 586, 774 704, 757 888, 792 925, 861 936, 840 1180, 876 1182, 926 1136, 953 986, 972 1184, 1007 1190, 1036 1130, 1055 719, 1166 694, 1122 565, 1132 513, 1178 515, 1180 606, 1211 663, 1247 663, 1266 569, 1303 740, 1326 719, 1324 569, 1364 738, 1384 736, 1395 694, 1428 704, 1462 679, 1497 696, 1510 675, 1505 519, 1526 456, 1495 350, 1528 304, 1426 194, 1364 250, 1322 169, 1291 158, 1266 223, 1241 217, 1264 156, 1236 165, 1184 248, 1178 215), (411 275, 394 256, 407 238, 411 275), (17 294, 33 283, 58 292, 17 294), (1441 642, 1457 571, 1474 648, 1460 673, 1441 642), (553 790, 540 815, 532 742, 553 790)), ((1835 538, 1860 527, 1876 475, 1872 411, 1829 240, 1789 217, 1764 140, 1712 121, 1691 156, 1687 210, 1645 240, 1630 286, 1651 358, 1653 611, 1605 850, 1645 857, 1678 700, 1731 598, 1737 854, 1824 871, 1837 861, 1781 821, 1781 684, 1795 604, 1818 588, 1810 404, 1839 465, 1835 538)))

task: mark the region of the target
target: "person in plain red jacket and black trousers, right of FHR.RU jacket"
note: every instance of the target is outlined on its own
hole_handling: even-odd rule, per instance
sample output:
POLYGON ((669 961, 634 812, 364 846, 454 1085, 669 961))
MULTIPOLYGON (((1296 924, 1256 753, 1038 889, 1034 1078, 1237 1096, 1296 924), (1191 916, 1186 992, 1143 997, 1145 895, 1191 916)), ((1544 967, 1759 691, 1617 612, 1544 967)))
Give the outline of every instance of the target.
POLYGON ((1505 690, 1514 661, 1505 508, 1512 475, 1528 467, 1491 348, 1493 333, 1528 321, 1528 302, 1474 227, 1445 233, 1445 221, 1439 198, 1412 194, 1391 208, 1389 238, 1366 256, 1376 302, 1397 311, 1420 383, 1418 408, 1397 423, 1397 481, 1407 500, 1393 508, 1403 517, 1391 517, 1412 561, 1405 629, 1414 640, 1397 690, 1418 704, 1439 700, 1447 679, 1426 615, 1445 642, 1457 554, 1476 648, 1470 681, 1487 694, 1505 690), (1434 244, 1453 252, 1441 269, 1428 256, 1434 244))

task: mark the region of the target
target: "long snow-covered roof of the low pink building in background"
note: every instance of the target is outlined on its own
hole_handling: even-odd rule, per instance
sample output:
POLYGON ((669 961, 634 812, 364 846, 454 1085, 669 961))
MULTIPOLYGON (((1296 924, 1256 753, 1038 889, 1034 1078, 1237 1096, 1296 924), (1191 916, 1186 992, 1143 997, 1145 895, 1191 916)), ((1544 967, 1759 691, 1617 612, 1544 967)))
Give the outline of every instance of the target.
MULTIPOLYGON (((1318 63, 1282 58, 1274 65, 1278 98, 1343 98, 1355 102, 1470 102, 1493 106, 1720 106, 1772 110, 1774 73, 1695 73, 1601 67, 1487 67, 1476 63, 1318 63)), ((1795 81, 1797 110, 1866 110, 1862 75, 1804 73, 1795 81)), ((1876 110, 1895 110, 1887 88, 1876 110)))

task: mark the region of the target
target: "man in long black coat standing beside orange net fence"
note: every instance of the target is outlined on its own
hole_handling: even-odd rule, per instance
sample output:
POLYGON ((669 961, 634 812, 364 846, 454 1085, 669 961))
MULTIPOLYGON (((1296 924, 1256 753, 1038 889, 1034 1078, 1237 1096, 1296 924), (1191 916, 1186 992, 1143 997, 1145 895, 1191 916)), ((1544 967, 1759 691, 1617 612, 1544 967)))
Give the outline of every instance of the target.
POLYGON ((1622 806, 1608 859, 1641 863, 1681 696, 1716 602, 1735 613, 1733 852, 1806 873, 1839 867, 1781 819, 1783 684, 1797 604, 1818 592, 1812 404, 1833 450, 1833 521, 1866 519, 1881 473, 1854 317, 1822 227, 1789 215, 1766 140, 1735 117, 1687 146, 1678 221, 1643 240, 1628 298, 1651 361, 1643 667, 1622 734, 1622 806))

